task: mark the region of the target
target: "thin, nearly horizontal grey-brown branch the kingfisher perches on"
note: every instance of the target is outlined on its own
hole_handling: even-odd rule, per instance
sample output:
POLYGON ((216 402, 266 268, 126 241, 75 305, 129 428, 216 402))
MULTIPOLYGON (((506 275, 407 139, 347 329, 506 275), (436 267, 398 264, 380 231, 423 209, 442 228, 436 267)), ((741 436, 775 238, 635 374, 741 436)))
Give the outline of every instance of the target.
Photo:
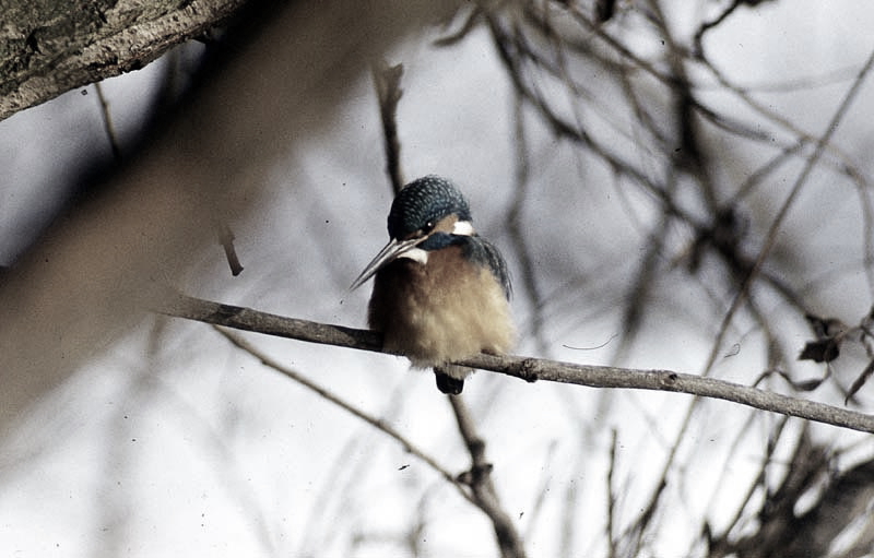
MULTIPOLYGON (((153 309, 167 316, 225 325, 238 330, 309 343, 382 353, 380 334, 368 330, 284 318, 259 312, 250 308, 223 305, 185 295, 168 297, 163 304, 156 305, 153 309)), ((874 415, 672 370, 589 366, 520 356, 485 354, 459 360, 456 364, 500 372, 529 382, 544 380, 588 385, 590 388, 669 391, 720 399, 761 411, 874 434, 874 415)))

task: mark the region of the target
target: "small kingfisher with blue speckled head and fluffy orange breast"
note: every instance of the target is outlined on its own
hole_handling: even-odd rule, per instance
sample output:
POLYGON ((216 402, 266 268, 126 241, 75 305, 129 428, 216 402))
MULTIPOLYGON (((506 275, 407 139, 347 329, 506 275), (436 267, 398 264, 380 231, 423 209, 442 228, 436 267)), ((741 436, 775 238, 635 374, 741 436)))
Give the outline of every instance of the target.
POLYGON ((351 288, 375 276, 367 322, 382 333, 382 348, 434 368, 437 388, 457 395, 472 370, 452 361, 513 344, 507 263, 474 230, 458 188, 438 176, 398 192, 388 229, 389 242, 351 288))

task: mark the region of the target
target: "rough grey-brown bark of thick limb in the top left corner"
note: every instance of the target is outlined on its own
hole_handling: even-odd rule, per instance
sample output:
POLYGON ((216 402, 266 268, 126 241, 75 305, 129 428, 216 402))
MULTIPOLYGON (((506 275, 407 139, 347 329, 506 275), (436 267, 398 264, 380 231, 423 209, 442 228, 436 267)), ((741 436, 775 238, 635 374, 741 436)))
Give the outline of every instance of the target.
POLYGON ((0 120, 139 70, 223 23, 245 0, 0 1, 0 120))

